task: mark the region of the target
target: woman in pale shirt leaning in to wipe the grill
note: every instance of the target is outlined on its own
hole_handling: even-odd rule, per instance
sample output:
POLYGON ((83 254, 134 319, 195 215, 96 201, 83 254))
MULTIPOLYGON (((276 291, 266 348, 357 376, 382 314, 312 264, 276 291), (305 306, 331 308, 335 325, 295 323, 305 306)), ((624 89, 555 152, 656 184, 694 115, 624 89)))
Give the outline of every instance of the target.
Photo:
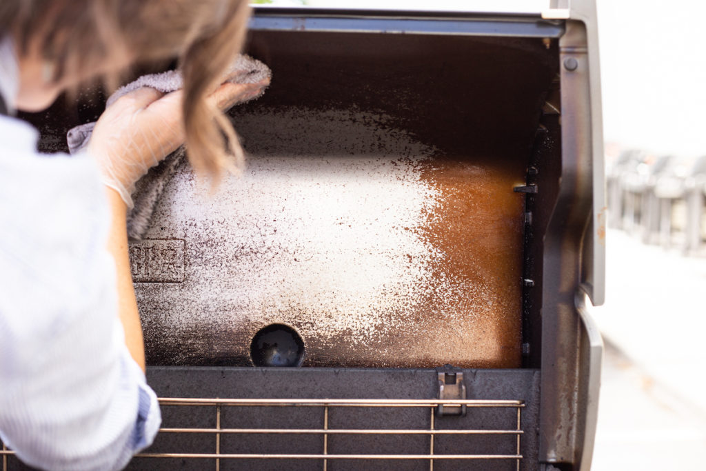
POLYGON ((0 438, 29 465, 120 469, 159 428, 126 207, 133 184, 184 141, 202 174, 238 163, 217 107, 240 85, 218 85, 248 15, 241 0, 0 4, 0 438), (142 88, 117 100, 86 155, 39 155, 37 132, 8 116, 44 109, 83 81, 114 84, 130 64, 174 57, 184 90, 142 88))

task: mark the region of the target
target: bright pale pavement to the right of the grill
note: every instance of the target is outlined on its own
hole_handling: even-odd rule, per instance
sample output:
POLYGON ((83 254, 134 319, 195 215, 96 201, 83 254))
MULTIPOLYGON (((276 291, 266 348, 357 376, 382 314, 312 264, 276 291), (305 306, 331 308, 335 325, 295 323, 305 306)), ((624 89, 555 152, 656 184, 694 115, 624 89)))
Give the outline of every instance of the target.
POLYGON ((706 470, 706 258, 609 231, 593 470, 706 470))

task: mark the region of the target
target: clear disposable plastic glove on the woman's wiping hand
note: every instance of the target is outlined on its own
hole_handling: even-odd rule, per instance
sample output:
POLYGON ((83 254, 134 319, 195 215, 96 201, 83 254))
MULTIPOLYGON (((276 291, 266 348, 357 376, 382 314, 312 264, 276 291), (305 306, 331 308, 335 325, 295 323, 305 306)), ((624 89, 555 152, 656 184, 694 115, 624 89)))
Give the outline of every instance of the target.
MULTIPOLYGON (((227 109, 262 93, 269 81, 224 83, 208 97, 227 109)), ((107 107, 95 124, 88 154, 97 162, 105 185, 117 191, 128 208, 135 183, 184 143, 183 93, 139 88, 107 107)))

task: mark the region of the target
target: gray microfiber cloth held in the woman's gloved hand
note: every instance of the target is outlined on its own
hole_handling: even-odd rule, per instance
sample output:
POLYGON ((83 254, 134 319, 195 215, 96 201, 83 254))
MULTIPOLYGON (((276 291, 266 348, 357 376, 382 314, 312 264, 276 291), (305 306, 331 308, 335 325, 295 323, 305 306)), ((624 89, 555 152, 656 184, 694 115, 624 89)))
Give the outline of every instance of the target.
MULTIPOLYGON (((229 68, 226 76, 229 76, 228 81, 232 83, 254 84, 263 81, 269 83, 272 71, 261 61, 253 59, 250 56, 240 55, 234 61, 231 68, 229 68)), ((112 105, 119 97, 133 90, 137 90, 138 88, 150 87, 160 90, 162 93, 170 93, 179 90, 183 86, 184 80, 181 77, 180 71, 152 73, 150 75, 141 76, 136 81, 128 83, 116 90, 115 93, 108 98, 106 107, 112 105)), ((234 103, 234 105, 254 100, 261 96, 264 91, 265 88, 263 87, 260 95, 248 97, 246 100, 234 103)), ((70 153, 76 153, 88 144, 94 126, 95 123, 81 124, 68 131, 66 141, 70 153)), ((150 220, 152 220, 152 213, 155 210, 157 201, 159 201, 164 187, 167 186, 167 183, 172 179, 179 165, 186 161, 184 158, 185 155, 184 145, 181 145, 181 147, 174 150, 173 153, 162 160, 159 165, 152 167, 150 171, 135 184, 135 191, 132 193, 134 207, 128 212, 127 217, 128 237, 130 237, 130 239, 142 240, 144 237, 145 232, 147 232, 150 226, 150 220)))

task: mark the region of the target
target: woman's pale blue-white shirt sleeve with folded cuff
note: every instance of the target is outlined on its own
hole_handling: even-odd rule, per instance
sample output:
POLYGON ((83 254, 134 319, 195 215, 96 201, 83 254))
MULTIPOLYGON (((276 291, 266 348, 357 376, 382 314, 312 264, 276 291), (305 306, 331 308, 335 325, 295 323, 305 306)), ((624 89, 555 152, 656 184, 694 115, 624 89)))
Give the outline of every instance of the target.
POLYGON ((28 465, 121 469, 160 426, 125 346, 108 230, 92 161, 2 149, 0 438, 28 465))

